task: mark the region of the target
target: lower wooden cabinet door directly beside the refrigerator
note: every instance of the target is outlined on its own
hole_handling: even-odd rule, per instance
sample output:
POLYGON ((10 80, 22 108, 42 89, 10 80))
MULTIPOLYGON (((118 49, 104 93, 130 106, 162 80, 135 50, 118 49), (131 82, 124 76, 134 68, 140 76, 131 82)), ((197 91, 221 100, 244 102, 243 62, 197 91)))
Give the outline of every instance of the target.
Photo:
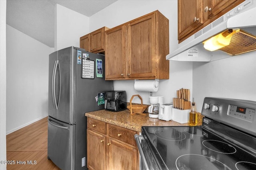
POLYGON ((90 170, 106 169, 106 137, 87 130, 87 166, 90 170))

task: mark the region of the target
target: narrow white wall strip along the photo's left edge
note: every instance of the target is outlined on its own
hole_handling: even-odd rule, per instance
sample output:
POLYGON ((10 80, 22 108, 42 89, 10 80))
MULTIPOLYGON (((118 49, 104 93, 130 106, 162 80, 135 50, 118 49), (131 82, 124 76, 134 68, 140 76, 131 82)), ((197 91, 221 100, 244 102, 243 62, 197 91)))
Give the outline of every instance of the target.
POLYGON ((0 0, 0 37, 0 160, 6 160, 6 0, 0 0))

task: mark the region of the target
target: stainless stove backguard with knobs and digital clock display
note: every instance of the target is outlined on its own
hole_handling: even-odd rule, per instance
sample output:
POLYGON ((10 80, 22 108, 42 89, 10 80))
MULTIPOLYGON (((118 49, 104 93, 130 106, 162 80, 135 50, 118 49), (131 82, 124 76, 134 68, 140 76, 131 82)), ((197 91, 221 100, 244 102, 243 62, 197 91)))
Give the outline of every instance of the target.
POLYGON ((256 136, 255 101, 206 97, 201 114, 256 136))

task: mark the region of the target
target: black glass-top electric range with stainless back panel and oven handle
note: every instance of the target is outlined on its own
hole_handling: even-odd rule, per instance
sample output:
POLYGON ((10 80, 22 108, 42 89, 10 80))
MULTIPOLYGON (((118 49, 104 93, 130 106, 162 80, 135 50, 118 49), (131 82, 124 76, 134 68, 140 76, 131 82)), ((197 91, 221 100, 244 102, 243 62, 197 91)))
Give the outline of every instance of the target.
POLYGON ((141 169, 255 170, 255 112, 256 102, 205 98, 201 126, 142 127, 141 169))

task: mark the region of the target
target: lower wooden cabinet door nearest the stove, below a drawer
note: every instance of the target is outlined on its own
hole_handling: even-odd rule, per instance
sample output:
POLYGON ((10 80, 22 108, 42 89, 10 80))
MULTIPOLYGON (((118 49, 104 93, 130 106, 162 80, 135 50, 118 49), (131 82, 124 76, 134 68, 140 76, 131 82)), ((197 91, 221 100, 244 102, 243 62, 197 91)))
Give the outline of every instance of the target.
POLYGON ((107 146, 107 170, 137 170, 137 150, 109 139, 107 146))

